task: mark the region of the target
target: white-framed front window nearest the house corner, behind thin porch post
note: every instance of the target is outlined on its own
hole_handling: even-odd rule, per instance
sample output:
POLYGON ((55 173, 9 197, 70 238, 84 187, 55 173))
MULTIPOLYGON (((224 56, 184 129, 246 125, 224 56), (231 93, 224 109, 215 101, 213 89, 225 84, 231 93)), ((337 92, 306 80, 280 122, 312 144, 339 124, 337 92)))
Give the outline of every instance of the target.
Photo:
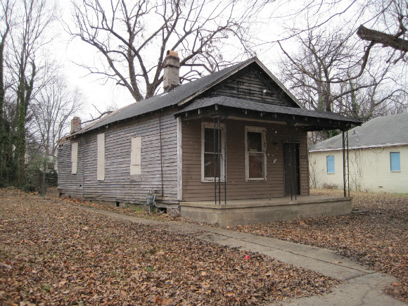
POLYGON ((201 125, 201 180, 214 181, 214 177, 224 180, 224 125, 219 125, 219 133, 214 124, 201 125))

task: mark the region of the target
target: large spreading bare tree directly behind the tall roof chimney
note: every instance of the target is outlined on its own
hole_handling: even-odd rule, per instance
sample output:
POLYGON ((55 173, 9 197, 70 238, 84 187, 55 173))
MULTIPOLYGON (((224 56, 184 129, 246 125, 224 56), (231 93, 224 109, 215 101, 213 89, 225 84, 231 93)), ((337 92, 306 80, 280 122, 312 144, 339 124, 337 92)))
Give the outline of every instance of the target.
POLYGON ((262 7, 257 0, 108 2, 74 4, 76 29, 68 27, 68 32, 94 46, 106 63, 82 66, 126 87, 136 101, 153 96, 160 87, 167 49, 179 52, 185 73, 181 81, 230 64, 223 52, 228 43, 251 53, 251 24, 262 7))

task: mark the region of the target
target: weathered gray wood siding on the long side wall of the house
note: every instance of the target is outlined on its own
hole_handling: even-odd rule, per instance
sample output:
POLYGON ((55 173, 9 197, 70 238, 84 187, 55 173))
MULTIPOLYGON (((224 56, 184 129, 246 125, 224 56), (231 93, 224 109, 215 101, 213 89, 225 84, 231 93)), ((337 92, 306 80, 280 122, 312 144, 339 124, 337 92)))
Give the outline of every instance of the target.
MULTIPOLYGON (((177 202, 177 120, 172 113, 124 122, 79 136, 78 173, 70 174, 70 144, 58 152, 58 188, 67 196, 117 202, 146 202, 148 191, 163 195, 158 200, 177 202), (97 135, 105 134, 105 178, 96 179, 97 135), (141 136, 141 180, 130 177, 132 138, 141 136), (86 162, 83 162, 83 161, 86 162), (160 167, 162 160, 162 169, 160 167), (82 187, 79 186, 82 184, 82 187), (79 192, 79 189, 83 191, 79 192)), ((72 141, 76 141, 73 139, 72 141)))

